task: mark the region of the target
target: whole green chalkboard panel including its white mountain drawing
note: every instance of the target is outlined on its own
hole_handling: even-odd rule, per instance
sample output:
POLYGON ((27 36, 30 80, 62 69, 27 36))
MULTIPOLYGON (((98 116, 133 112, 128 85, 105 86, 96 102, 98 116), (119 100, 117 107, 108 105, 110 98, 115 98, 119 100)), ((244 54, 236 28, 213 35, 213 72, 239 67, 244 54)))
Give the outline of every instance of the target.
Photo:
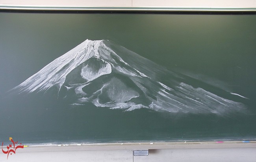
POLYGON ((0 141, 256 138, 256 15, 0 12, 0 141))

